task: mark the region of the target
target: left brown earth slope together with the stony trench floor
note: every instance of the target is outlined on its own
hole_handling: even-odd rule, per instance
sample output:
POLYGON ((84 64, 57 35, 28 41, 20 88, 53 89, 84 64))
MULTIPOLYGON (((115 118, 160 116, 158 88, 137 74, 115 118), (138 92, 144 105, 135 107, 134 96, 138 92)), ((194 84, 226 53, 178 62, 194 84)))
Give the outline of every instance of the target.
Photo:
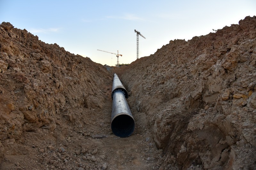
POLYGON ((156 168, 162 150, 144 113, 131 107, 133 135, 113 135, 112 81, 101 64, 3 22, 0 169, 156 168))

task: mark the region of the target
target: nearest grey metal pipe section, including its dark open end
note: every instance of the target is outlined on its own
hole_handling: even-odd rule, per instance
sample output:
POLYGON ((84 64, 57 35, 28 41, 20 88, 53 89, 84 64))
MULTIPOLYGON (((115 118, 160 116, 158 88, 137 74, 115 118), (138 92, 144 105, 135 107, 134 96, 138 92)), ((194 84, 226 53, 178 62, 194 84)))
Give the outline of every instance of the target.
MULTIPOLYGON (((115 77, 114 77, 114 80, 115 80, 115 77)), ((113 86, 113 87, 115 88, 116 86, 113 86)), ((115 91, 113 90, 113 87, 112 87, 112 92, 114 91, 114 93, 112 95, 113 104, 112 104, 112 115, 111 115, 111 129, 116 136, 121 138, 126 138, 132 135, 135 129, 135 121, 132 116, 132 112, 128 106, 128 103, 125 99, 123 91, 121 90, 115 91)))

